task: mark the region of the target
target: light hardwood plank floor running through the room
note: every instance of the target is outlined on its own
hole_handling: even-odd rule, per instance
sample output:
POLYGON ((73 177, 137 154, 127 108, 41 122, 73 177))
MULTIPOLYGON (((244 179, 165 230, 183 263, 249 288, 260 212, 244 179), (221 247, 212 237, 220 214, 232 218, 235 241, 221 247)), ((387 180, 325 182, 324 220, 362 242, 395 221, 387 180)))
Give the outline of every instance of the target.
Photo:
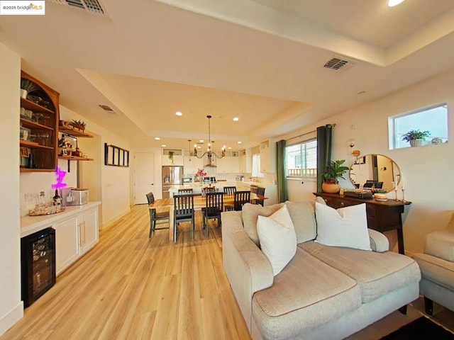
MULTIPOLYGON (((250 339, 223 272, 221 229, 210 220, 206 239, 199 214, 194 240, 182 224, 172 244, 167 230, 148 239, 148 207, 134 206, 0 340, 250 339)), ((420 315, 394 312, 348 339, 380 339, 420 315)))

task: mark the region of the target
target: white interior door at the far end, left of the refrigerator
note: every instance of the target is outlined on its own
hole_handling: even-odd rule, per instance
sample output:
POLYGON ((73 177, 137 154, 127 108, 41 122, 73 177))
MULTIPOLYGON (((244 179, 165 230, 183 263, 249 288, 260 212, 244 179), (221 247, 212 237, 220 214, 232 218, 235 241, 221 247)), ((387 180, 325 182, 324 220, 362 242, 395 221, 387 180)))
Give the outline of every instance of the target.
POLYGON ((146 204, 147 193, 155 193, 155 155, 138 152, 134 156, 134 204, 146 204))

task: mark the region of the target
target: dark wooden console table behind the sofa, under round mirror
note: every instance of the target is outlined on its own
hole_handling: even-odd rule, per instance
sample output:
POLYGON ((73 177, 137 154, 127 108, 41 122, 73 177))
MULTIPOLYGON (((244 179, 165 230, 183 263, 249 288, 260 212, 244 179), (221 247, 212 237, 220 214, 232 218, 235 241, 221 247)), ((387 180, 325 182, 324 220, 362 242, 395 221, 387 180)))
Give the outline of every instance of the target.
POLYGON ((374 198, 354 198, 350 196, 339 195, 338 193, 314 193, 325 200, 326 205, 331 208, 343 208, 348 205, 366 203, 367 227, 375 229, 378 232, 388 232, 389 230, 397 231, 397 244, 399 253, 404 254, 404 233, 402 231, 402 212, 405 203, 398 200, 375 200, 374 198))

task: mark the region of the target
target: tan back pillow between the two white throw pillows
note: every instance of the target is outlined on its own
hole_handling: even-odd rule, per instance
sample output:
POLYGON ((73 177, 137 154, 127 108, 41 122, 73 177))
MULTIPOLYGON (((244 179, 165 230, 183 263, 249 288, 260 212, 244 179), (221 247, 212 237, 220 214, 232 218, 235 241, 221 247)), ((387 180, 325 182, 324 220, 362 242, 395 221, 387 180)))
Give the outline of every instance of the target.
POLYGON ((317 224, 315 222, 314 203, 310 201, 285 202, 292 217, 295 232, 297 233, 297 242, 303 243, 315 239, 317 236, 317 224))

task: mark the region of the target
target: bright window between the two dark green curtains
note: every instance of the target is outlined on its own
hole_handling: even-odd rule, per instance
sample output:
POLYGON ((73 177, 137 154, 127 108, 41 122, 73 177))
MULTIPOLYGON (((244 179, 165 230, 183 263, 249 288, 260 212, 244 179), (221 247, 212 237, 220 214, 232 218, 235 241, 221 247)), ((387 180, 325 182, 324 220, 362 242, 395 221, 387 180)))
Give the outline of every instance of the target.
POLYGON ((317 176, 317 140, 306 140, 285 148, 287 177, 317 176))

